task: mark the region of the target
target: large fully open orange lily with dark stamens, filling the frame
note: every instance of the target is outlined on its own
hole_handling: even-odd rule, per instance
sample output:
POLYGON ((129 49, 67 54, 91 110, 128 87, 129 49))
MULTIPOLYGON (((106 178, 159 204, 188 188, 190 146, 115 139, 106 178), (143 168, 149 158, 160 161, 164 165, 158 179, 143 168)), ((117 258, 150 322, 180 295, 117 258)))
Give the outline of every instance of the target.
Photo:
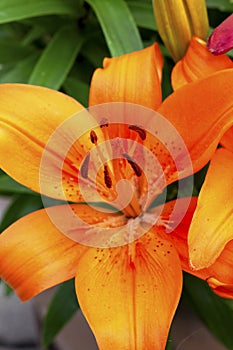
MULTIPOLYGON (((187 198, 180 198, 163 207, 150 206, 166 185, 201 169, 232 125, 233 69, 187 84, 164 102, 161 69, 162 57, 156 44, 106 59, 104 68, 96 70, 92 79, 89 113, 77 101, 56 91, 29 85, 0 85, 2 169, 37 192, 74 202, 34 212, 6 229, 0 236, 0 274, 22 300, 76 277, 79 303, 100 349, 164 349, 181 294, 182 268, 206 279, 216 292, 233 297, 231 243, 208 269, 192 271, 189 267, 187 232, 195 198, 188 198, 188 202, 187 198), (120 121, 115 124, 110 120, 114 102, 125 102, 120 108, 120 121), (128 108, 136 112, 130 115, 131 123, 124 122, 128 108), (105 114, 99 115, 99 110, 105 114), (170 143, 171 135, 166 130, 164 142, 156 134, 155 110, 180 135, 193 170, 179 169, 180 164, 186 164, 187 154, 184 148, 176 149, 177 145, 170 143), (140 125, 134 124, 137 113, 145 118, 140 125), (80 118, 73 123, 71 117, 75 114, 80 118), (70 120, 60 133, 61 125, 66 126, 70 120), (81 132, 78 140, 76 129, 81 132), (56 131, 62 143, 50 142, 56 131), (118 141, 109 143, 119 138, 128 141, 119 147, 118 141), (64 159, 63 146, 70 139, 73 144, 64 159), (101 148, 102 143, 106 148, 101 148), (121 159, 107 157, 109 152, 117 154, 121 147, 125 147, 121 159), (99 158, 92 157, 96 149, 99 158), (144 154, 145 149, 150 153, 144 154), (174 159, 169 149, 175 152, 174 159), (47 167, 41 167, 44 154, 47 167), (151 155, 161 165, 164 181, 151 167, 151 155), (104 161, 93 178, 97 159, 104 161), (116 198, 120 180, 128 180, 133 188, 124 207, 116 198), (93 189, 93 183, 103 202, 116 203, 115 212, 78 203, 86 195, 81 188, 93 189), (143 208, 147 193, 149 201, 143 208), (154 223, 152 218, 156 215, 154 223), (77 225, 77 217, 86 225, 77 225), (70 236, 63 234, 61 227, 70 236), (96 233, 101 235, 101 231, 107 233, 112 228, 115 235, 104 247, 98 246, 96 233), (138 236, 140 230, 143 234, 138 236), (91 244, 79 243, 85 237, 91 239, 91 244)), ((116 111, 119 113, 119 104, 116 111)), ((124 199, 127 191, 123 194, 124 199)), ((92 198, 95 201, 94 191, 92 198)))

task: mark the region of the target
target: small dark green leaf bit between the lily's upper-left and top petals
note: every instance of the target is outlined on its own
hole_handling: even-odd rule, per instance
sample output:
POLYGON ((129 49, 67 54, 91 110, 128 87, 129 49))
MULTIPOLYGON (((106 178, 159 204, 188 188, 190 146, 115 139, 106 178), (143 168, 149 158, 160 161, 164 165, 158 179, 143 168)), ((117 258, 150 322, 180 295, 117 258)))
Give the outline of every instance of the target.
POLYGON ((63 84, 65 92, 74 97, 84 107, 88 107, 89 85, 75 78, 67 78, 63 84))

